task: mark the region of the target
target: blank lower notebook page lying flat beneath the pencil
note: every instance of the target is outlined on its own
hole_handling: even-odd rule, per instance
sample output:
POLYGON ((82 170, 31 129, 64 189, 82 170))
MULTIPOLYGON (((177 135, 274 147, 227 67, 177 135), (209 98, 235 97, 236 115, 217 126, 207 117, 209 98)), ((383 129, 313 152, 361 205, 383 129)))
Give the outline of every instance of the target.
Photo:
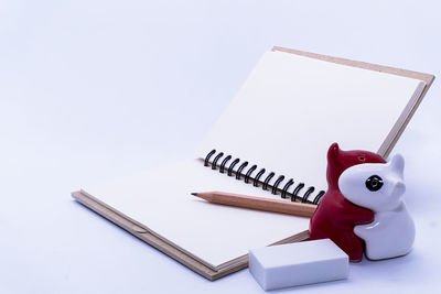
POLYGON ((309 228, 309 218, 222 206, 191 195, 206 190, 277 197, 206 168, 198 160, 82 188, 214 271, 228 266, 249 249, 309 228))

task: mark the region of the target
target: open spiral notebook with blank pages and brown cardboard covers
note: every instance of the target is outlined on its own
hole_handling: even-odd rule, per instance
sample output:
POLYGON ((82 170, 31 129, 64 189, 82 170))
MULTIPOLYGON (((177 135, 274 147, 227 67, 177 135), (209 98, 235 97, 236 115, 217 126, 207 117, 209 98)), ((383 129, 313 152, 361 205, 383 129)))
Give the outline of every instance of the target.
POLYGON ((275 47, 187 161, 73 197, 201 275, 247 266, 249 249, 308 238, 309 219, 190 196, 223 190, 318 204, 326 150, 387 156, 433 76, 275 47))

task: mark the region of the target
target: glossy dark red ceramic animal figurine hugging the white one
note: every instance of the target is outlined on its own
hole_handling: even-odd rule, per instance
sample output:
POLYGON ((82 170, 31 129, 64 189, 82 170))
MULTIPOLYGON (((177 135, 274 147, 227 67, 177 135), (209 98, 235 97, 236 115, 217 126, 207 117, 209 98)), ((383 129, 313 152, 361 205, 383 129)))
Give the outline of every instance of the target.
POLYGON ((374 213, 349 203, 338 188, 338 177, 351 166, 386 163, 378 154, 367 151, 342 151, 333 143, 327 151, 327 192, 321 199, 310 222, 310 238, 330 238, 351 261, 363 259, 363 240, 354 233, 357 225, 374 221, 374 213))

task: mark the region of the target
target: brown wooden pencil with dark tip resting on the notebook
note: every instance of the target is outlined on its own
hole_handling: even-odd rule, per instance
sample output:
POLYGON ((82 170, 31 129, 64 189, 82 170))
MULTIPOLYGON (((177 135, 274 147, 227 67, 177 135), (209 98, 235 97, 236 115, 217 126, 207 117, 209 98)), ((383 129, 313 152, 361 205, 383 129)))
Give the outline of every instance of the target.
POLYGON ((203 198, 209 203, 272 211, 293 216, 311 217, 316 205, 294 203, 281 199, 268 199, 263 197, 246 196, 224 192, 192 193, 193 196, 203 198))

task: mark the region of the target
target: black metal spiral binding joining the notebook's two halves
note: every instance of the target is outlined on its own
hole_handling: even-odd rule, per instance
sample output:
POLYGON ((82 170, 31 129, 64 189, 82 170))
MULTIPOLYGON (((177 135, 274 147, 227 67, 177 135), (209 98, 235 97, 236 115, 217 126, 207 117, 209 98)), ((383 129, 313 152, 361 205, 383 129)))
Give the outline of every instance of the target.
MULTIPOLYGON (((213 149, 212 151, 209 151, 209 152, 207 153, 207 155, 205 156, 205 160, 204 160, 204 165, 205 165, 205 166, 209 166, 209 159, 211 159, 214 154, 216 154, 216 150, 215 150, 215 149, 213 149)), ((223 156, 224 156, 224 152, 219 152, 219 153, 217 153, 217 155, 215 155, 215 157, 213 159, 213 161, 212 161, 212 163, 211 163, 211 164, 212 164, 212 170, 216 170, 216 167, 217 167, 217 162, 218 162, 223 156)), ((232 159, 233 159, 232 155, 227 155, 227 156, 225 156, 225 157, 222 160, 220 165, 219 165, 219 173, 225 173, 225 167, 226 167, 227 163, 228 163, 232 159)), ((228 175, 228 176, 233 176, 234 167, 235 167, 239 162, 240 162, 240 159, 235 159, 235 160, 229 164, 229 166, 227 167, 227 175, 228 175)), ((236 179, 240 179, 240 178, 244 176, 244 174, 245 174, 244 181, 245 181, 245 183, 247 183, 247 184, 249 184, 249 178, 250 178, 251 174, 257 170, 257 165, 254 164, 251 167, 248 168, 247 172, 243 173, 244 170, 248 166, 248 164, 249 164, 249 163, 248 163, 247 161, 243 162, 243 163, 239 165, 239 167, 237 168, 237 172, 235 172, 235 174, 236 174, 236 179)), ((255 178, 254 178, 252 185, 254 185, 255 187, 258 187, 259 184, 261 184, 262 189, 267 190, 267 189, 268 189, 268 186, 269 186, 269 182, 276 176, 276 173, 270 172, 270 173, 265 177, 265 179, 263 179, 262 182, 260 182, 260 177, 262 177, 262 175, 265 174, 265 172, 266 172, 265 168, 260 168, 260 171, 256 174, 256 176, 255 176, 255 178)), ((310 186, 310 187, 308 187, 308 189, 303 193, 303 195, 300 196, 299 193, 300 193, 300 190, 301 190, 302 188, 304 188, 304 186, 305 186, 304 183, 299 183, 299 184, 297 184, 295 187, 294 187, 294 189, 293 189, 292 192, 289 192, 289 189, 291 188, 291 186, 294 186, 294 179, 293 179, 293 178, 288 179, 288 182, 283 185, 283 187, 282 187, 282 188, 279 188, 279 186, 280 186, 280 184, 283 182, 283 179, 284 179, 284 175, 279 175, 279 176, 277 177, 275 184, 273 184, 272 187, 271 187, 271 193, 275 194, 275 195, 277 195, 278 192, 280 192, 280 197, 282 197, 282 198, 288 198, 288 197, 289 197, 289 198, 291 199, 291 202, 295 202, 297 199, 300 199, 300 202, 302 202, 302 203, 306 203, 306 202, 308 202, 308 203, 312 203, 312 204, 315 204, 315 205, 316 205, 316 204, 320 203, 321 198, 322 198, 323 195, 325 194, 324 190, 320 190, 320 192, 315 195, 315 197, 314 197, 313 199, 310 199, 310 198, 311 198, 311 194, 313 194, 314 190, 315 190, 315 187, 310 186), (289 194, 290 196, 288 196, 288 194, 289 194)))

